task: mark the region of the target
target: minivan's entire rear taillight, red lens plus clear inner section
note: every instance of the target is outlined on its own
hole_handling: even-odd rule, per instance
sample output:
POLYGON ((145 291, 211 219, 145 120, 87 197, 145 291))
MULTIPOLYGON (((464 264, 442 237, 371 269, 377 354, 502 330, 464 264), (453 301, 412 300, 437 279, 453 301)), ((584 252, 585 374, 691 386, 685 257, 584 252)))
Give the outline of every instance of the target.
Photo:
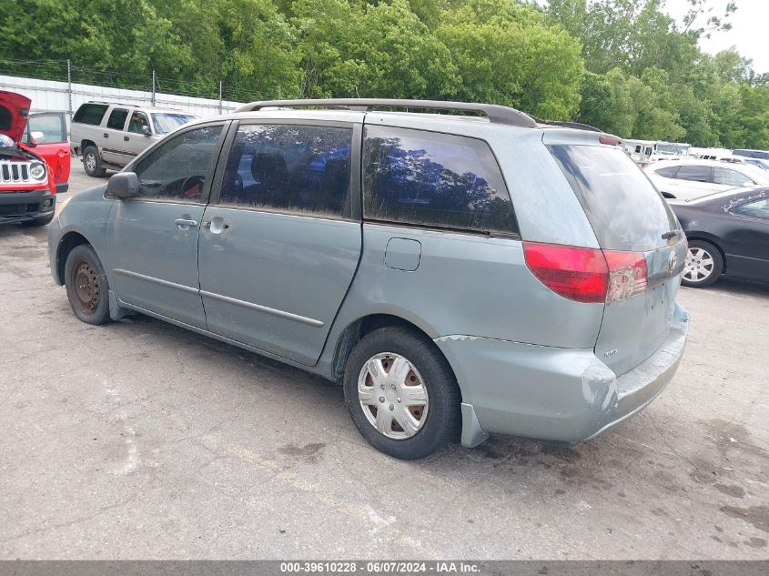
POLYGON ((577 302, 609 304, 646 289, 643 252, 524 242, 523 255, 542 284, 577 302))

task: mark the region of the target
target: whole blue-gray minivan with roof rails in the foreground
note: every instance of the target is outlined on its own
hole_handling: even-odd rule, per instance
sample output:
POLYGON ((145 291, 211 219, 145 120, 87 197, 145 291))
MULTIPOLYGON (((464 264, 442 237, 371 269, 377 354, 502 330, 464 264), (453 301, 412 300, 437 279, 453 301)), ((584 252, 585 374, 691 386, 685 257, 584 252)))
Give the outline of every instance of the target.
POLYGON ((339 382, 397 458, 580 442, 664 389, 688 327, 683 232, 618 142, 504 106, 252 103, 73 197, 51 270, 87 323, 140 312, 339 382))

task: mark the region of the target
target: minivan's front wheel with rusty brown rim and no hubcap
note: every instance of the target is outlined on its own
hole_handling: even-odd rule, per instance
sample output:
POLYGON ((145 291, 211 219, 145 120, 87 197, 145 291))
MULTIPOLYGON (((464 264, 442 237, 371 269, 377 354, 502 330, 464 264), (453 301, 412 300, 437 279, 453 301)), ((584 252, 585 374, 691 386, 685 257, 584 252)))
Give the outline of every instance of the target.
POLYGON ((66 298, 87 324, 109 322, 109 284, 99 258, 87 244, 72 248, 64 267, 66 298))

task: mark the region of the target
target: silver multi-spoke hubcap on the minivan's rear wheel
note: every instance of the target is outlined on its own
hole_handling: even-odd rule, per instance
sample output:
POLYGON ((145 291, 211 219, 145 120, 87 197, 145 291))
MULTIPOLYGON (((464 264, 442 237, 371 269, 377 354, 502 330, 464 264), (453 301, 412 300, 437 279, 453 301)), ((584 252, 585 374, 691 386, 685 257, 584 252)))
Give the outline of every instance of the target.
POLYGON ((369 424, 393 440, 422 429, 430 406, 419 370, 400 354, 372 356, 360 370, 358 399, 369 424))

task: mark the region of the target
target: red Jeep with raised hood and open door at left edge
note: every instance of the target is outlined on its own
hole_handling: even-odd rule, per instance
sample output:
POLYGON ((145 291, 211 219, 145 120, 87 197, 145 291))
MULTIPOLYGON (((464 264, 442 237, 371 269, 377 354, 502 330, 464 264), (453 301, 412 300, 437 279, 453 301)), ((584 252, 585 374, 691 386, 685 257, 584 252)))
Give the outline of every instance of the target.
POLYGON ((30 104, 26 96, 0 90, 0 224, 45 226, 56 211, 56 192, 68 186, 64 115, 27 118, 30 104))

